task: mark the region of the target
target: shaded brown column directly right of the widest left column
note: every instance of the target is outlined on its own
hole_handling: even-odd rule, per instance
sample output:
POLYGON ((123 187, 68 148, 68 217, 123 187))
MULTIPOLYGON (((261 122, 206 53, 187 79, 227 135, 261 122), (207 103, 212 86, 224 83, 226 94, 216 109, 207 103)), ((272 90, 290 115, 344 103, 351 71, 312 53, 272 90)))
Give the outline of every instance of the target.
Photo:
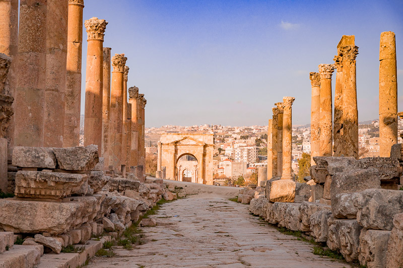
POLYGON ((69 0, 48 1, 43 146, 63 147, 69 0))

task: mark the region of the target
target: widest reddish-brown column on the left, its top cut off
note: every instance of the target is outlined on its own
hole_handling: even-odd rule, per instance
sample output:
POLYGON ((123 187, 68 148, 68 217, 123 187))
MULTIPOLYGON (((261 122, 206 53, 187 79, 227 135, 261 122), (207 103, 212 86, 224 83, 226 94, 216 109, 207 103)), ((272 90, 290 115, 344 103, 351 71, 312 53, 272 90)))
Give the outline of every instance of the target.
POLYGON ((15 146, 43 147, 47 0, 21 0, 15 146))

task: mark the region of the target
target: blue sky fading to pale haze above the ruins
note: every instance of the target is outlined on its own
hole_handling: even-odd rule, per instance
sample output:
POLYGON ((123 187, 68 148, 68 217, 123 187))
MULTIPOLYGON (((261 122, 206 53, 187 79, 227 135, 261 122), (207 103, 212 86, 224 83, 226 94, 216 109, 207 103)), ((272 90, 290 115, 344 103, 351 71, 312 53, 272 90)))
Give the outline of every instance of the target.
MULTIPOLYGON (((109 22, 105 47, 125 53, 128 87, 145 94, 146 127, 266 125, 274 103, 296 98, 310 122, 309 72, 333 63, 355 35, 359 120, 378 118, 379 37, 396 34, 403 83, 403 1, 85 0, 84 20, 109 22)), ((84 113, 87 36, 83 38, 84 113)), ((335 75, 333 75, 334 92, 335 75)), ((398 90, 399 111, 403 91, 398 90)))

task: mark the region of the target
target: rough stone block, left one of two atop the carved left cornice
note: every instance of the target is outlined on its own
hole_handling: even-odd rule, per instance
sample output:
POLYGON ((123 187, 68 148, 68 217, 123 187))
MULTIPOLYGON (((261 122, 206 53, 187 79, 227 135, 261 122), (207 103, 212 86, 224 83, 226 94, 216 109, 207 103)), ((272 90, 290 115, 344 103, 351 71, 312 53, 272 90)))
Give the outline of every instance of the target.
POLYGON ((56 168, 51 148, 15 146, 12 164, 20 167, 56 168))

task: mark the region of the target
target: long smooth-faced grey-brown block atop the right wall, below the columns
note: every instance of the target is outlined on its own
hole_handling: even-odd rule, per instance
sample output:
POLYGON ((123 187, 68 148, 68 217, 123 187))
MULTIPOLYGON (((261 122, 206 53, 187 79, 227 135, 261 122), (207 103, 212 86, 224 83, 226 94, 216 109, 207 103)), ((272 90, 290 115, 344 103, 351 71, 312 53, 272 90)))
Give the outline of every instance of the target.
POLYGON ((380 188, 380 185, 379 171, 377 169, 349 168, 344 172, 337 172, 332 176, 330 197, 333 202, 337 194, 355 193, 366 189, 380 188))

